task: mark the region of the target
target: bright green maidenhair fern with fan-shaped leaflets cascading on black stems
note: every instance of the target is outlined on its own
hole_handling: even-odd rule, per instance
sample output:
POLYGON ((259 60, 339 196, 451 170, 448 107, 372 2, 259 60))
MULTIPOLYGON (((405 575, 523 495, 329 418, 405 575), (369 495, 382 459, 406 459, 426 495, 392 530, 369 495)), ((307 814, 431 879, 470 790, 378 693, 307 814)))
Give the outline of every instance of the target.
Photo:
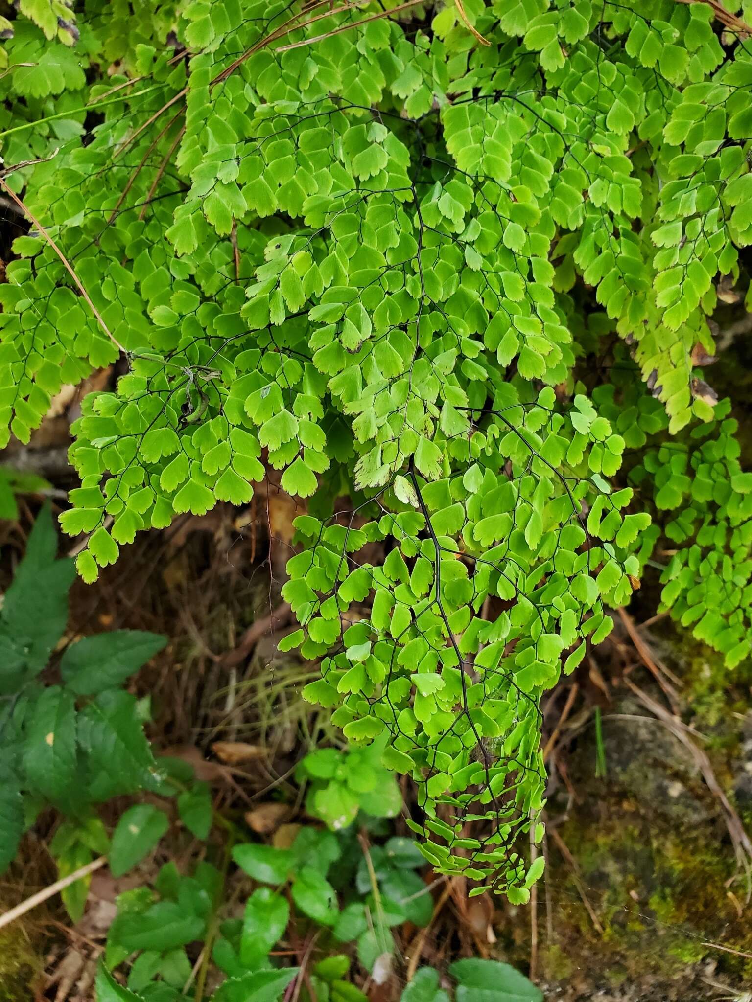
POLYGON ((388 735, 438 869, 526 900, 540 693, 639 586, 651 511, 666 605, 749 651, 750 478, 693 359, 752 240, 750 29, 674 0, 90 0, 45 41, 57 6, 22 0, 0 81, 31 220, 5 441, 127 368, 74 427, 87 581, 281 471, 306 697, 388 735))

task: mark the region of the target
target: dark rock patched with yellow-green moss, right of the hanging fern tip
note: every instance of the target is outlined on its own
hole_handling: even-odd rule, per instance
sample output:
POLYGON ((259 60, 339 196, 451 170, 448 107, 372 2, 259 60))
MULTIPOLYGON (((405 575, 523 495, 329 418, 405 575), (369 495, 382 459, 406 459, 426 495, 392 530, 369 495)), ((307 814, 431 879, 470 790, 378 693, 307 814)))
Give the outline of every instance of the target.
MULTIPOLYGON (((699 745, 752 830, 752 665, 730 673, 668 620, 651 641, 682 677, 684 719, 704 735, 699 745)), ((663 698, 651 679, 639 684, 663 698)), ((722 808, 675 734, 624 689, 613 687, 612 699, 602 717, 606 776, 596 775, 591 717, 569 749, 567 785, 549 792, 546 814, 577 873, 549 835, 540 987, 561 1002, 706 1002, 710 978, 741 997, 752 984, 752 927, 722 808)), ((513 928, 500 950, 523 966, 529 941, 513 928)))

